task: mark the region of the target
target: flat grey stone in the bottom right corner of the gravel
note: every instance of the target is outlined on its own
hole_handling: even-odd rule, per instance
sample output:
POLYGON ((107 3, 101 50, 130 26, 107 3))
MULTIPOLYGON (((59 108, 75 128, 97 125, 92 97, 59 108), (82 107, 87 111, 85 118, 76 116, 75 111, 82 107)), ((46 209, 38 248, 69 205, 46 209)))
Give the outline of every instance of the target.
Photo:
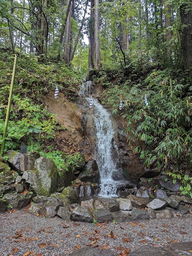
MULTIPOLYGON (((192 255, 192 242, 170 243, 164 247, 172 255, 192 255)), ((169 255, 170 255, 169 254, 169 255)))

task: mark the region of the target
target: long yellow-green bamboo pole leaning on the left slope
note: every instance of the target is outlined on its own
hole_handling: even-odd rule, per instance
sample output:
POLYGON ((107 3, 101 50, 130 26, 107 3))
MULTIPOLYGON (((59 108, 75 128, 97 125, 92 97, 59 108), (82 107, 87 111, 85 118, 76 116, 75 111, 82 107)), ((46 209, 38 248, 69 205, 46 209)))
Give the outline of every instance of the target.
POLYGON ((13 64, 13 69, 12 69, 12 81, 11 81, 11 86, 10 86, 9 101, 8 101, 8 106, 7 106, 5 127, 4 127, 4 132, 3 132, 3 142, 2 142, 1 148, 0 148, 1 156, 3 156, 4 148, 5 148, 5 137, 6 137, 6 134, 7 134, 7 126, 8 126, 8 122, 9 122, 10 108, 11 108, 11 103, 12 103, 12 91, 13 91, 13 84, 14 84, 14 79, 15 79, 16 63, 17 63, 17 54, 14 54, 14 64, 13 64))

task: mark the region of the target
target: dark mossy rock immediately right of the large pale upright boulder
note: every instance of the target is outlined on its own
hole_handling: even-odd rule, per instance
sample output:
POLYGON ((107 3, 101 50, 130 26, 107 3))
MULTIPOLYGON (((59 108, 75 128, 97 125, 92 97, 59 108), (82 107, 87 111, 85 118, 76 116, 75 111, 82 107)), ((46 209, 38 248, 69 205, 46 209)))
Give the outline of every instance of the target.
POLYGON ((72 171, 72 166, 67 164, 66 168, 68 170, 62 169, 57 175, 57 188, 68 187, 72 185, 72 181, 76 179, 72 171))

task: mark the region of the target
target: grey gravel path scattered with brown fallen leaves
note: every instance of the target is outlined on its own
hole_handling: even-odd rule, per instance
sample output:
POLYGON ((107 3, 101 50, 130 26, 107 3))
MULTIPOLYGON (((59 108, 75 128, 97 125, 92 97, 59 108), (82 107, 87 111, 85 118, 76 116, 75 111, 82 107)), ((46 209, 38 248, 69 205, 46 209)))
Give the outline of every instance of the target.
POLYGON ((192 212, 172 219, 105 225, 44 218, 24 210, 0 214, 0 256, 64 256, 91 243, 120 253, 114 246, 134 251, 144 244, 157 247, 177 241, 192 241, 192 212))

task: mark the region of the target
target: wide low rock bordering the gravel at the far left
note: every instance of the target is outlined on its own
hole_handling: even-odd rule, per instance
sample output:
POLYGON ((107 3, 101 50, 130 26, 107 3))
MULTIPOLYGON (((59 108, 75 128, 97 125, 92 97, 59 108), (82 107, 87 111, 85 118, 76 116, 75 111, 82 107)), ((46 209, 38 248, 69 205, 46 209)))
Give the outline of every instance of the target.
POLYGON ((9 193, 4 195, 3 199, 6 200, 9 204, 11 204, 12 208, 21 210, 31 202, 32 195, 29 193, 27 194, 9 193))

